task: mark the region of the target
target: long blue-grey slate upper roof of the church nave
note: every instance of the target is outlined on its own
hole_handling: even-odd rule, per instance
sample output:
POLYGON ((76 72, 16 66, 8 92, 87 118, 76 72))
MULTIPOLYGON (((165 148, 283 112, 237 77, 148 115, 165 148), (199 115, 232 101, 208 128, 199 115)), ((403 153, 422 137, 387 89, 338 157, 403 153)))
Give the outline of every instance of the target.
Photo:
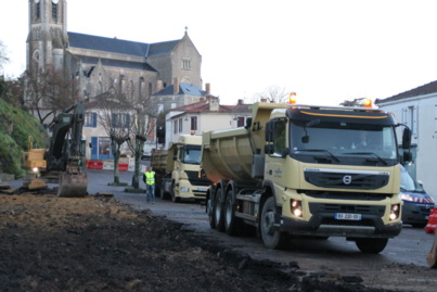
POLYGON ((145 43, 68 31, 69 47, 136 56, 169 54, 180 40, 145 43))

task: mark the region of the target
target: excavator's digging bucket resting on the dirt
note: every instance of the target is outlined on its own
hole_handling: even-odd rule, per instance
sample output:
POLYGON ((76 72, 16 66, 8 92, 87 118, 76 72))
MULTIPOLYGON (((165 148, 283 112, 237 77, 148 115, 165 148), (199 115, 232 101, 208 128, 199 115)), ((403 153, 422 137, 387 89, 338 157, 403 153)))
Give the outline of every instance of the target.
POLYGON ((80 172, 76 174, 70 174, 67 172, 61 172, 57 196, 62 198, 87 196, 88 195, 87 185, 88 179, 86 173, 80 172))

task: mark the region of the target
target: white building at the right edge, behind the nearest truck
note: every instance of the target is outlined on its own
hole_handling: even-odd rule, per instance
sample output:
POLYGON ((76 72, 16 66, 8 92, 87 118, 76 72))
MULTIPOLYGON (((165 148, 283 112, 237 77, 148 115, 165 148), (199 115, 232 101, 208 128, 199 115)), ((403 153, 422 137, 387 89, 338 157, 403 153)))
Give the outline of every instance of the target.
POLYGON ((413 163, 409 172, 437 201, 437 81, 376 100, 375 104, 393 112, 398 123, 411 128, 413 163))

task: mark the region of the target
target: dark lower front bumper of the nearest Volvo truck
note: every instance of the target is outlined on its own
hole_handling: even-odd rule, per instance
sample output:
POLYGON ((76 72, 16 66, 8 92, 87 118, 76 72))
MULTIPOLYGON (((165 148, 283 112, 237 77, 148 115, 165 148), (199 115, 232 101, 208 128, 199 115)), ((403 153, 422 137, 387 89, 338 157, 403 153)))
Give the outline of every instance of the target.
POLYGON ((364 215, 362 220, 337 220, 333 214, 316 214, 309 221, 281 216, 281 231, 296 236, 395 238, 402 230, 402 223, 384 225, 376 215, 364 215))

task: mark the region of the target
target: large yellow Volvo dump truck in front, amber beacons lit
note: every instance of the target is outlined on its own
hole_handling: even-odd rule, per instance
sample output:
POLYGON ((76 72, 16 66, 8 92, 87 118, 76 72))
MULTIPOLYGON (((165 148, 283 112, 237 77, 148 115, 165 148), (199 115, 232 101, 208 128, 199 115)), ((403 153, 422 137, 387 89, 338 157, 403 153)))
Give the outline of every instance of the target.
POLYGON ((398 126, 376 109, 255 103, 245 127, 203 134, 210 227, 253 226, 269 249, 344 237, 380 253, 402 227, 399 168, 411 154, 398 151, 398 126))

